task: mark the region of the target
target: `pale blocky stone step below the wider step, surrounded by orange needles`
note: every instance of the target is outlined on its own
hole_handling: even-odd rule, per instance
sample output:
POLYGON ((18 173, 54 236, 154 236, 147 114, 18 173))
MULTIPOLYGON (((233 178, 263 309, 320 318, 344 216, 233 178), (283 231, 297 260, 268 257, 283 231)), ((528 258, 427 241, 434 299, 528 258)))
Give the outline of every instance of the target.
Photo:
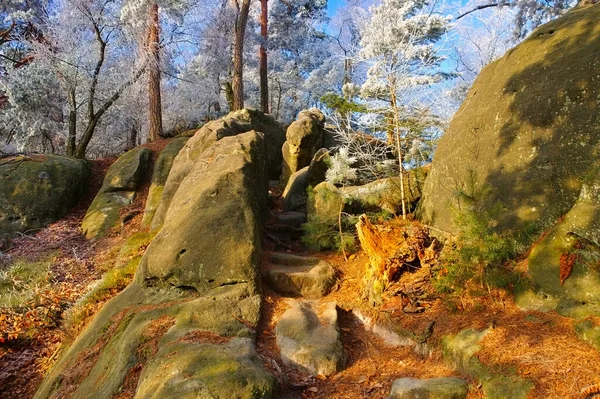
POLYGON ((289 300, 275 327, 282 360, 313 374, 332 375, 345 366, 334 302, 289 300))

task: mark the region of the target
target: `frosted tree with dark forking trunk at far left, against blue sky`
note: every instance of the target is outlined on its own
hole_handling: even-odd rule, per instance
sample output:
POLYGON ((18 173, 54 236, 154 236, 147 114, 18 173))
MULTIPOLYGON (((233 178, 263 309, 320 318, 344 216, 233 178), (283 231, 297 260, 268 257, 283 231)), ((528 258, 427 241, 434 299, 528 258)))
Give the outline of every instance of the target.
POLYGON ((0 111, 0 119, 21 147, 36 136, 50 137, 62 147, 53 150, 83 158, 97 129, 105 130, 102 118, 143 72, 122 34, 119 7, 117 0, 55 4, 43 40, 28 43, 31 64, 13 68, 2 81, 10 106, 0 111), (42 79, 41 73, 48 77, 42 79), (49 88, 52 99, 38 94, 49 88))

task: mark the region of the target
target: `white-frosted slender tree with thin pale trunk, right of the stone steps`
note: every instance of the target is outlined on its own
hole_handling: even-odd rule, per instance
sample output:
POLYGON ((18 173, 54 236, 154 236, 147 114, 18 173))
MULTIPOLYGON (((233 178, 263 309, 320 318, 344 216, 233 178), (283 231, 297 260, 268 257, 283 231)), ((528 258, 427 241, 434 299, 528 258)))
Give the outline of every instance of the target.
MULTIPOLYGON (((429 118, 426 109, 411 103, 419 98, 416 89, 444 77, 436 44, 448 26, 449 18, 433 14, 426 0, 383 0, 371 9, 362 33, 360 54, 369 63, 362 94, 380 102, 388 143, 397 150, 402 194, 406 148, 429 118)), ((406 216, 404 199, 402 214, 406 216)))

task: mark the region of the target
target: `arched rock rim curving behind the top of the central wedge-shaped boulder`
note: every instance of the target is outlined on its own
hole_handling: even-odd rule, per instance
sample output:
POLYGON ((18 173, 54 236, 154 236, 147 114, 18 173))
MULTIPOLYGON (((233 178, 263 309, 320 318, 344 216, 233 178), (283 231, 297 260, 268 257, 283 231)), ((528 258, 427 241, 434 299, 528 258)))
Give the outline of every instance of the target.
POLYGON ((281 173, 281 146, 285 141, 283 127, 272 116, 257 110, 243 109, 232 112, 222 119, 202 126, 179 152, 152 220, 152 229, 159 228, 165 222, 171 201, 179 189, 179 185, 194 168, 202 153, 224 137, 235 136, 251 130, 265 135, 265 156, 269 177, 278 179, 281 173))

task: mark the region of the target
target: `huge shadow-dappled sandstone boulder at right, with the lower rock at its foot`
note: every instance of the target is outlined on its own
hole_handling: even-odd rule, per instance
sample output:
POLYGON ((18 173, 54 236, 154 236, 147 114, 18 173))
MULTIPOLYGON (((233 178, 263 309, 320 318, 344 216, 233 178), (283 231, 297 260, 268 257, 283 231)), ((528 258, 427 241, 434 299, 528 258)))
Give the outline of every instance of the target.
POLYGON ((457 232, 463 194, 500 203, 496 229, 523 244, 547 233, 527 262, 524 308, 600 314, 600 270, 585 260, 600 244, 599 46, 600 5, 578 7, 487 66, 425 183, 418 216, 441 230, 457 232))

